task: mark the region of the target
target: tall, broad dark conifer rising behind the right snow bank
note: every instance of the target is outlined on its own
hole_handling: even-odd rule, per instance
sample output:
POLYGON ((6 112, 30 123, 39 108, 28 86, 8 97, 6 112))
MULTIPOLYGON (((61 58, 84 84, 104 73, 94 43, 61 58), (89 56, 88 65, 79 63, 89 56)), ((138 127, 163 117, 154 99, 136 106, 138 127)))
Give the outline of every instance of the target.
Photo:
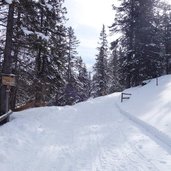
POLYGON ((160 42, 155 24, 155 0, 126 0, 117 8, 112 31, 122 32, 122 74, 125 87, 161 75, 160 42))

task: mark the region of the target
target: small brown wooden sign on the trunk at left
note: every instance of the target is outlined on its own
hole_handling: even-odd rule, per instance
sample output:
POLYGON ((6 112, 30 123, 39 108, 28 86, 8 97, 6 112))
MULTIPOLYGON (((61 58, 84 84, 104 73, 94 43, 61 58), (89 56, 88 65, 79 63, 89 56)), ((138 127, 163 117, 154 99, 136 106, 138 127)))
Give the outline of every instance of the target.
POLYGON ((16 86, 16 79, 15 79, 15 75, 13 74, 3 74, 2 75, 2 85, 6 85, 6 86, 16 86))

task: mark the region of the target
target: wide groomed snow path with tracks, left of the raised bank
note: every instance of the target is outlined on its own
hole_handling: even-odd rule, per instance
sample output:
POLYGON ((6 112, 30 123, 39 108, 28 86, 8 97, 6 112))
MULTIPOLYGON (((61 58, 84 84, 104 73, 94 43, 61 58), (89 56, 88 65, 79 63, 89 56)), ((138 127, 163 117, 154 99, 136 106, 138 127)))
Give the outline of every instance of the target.
POLYGON ((16 113, 0 127, 0 170, 170 171, 169 151, 116 108, 118 98, 16 113))

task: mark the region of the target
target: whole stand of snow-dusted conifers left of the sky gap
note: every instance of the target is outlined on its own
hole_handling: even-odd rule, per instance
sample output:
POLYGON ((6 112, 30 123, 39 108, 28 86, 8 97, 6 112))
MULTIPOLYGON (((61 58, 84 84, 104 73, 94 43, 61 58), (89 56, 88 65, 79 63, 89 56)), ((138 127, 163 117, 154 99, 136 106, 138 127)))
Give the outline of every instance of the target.
MULTIPOLYGON (((71 105, 89 97, 89 75, 66 13, 64 0, 0 1, 0 71, 17 80, 10 108, 28 101, 71 105)), ((5 91, 1 84, 1 112, 5 91)))

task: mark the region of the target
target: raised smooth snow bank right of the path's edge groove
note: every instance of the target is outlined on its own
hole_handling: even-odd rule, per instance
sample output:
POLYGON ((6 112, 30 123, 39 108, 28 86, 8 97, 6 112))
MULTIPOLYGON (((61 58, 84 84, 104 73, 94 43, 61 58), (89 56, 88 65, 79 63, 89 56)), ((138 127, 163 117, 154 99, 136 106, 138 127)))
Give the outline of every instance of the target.
POLYGON ((125 90, 131 99, 119 104, 128 113, 171 137, 171 75, 151 80, 145 86, 125 90))

